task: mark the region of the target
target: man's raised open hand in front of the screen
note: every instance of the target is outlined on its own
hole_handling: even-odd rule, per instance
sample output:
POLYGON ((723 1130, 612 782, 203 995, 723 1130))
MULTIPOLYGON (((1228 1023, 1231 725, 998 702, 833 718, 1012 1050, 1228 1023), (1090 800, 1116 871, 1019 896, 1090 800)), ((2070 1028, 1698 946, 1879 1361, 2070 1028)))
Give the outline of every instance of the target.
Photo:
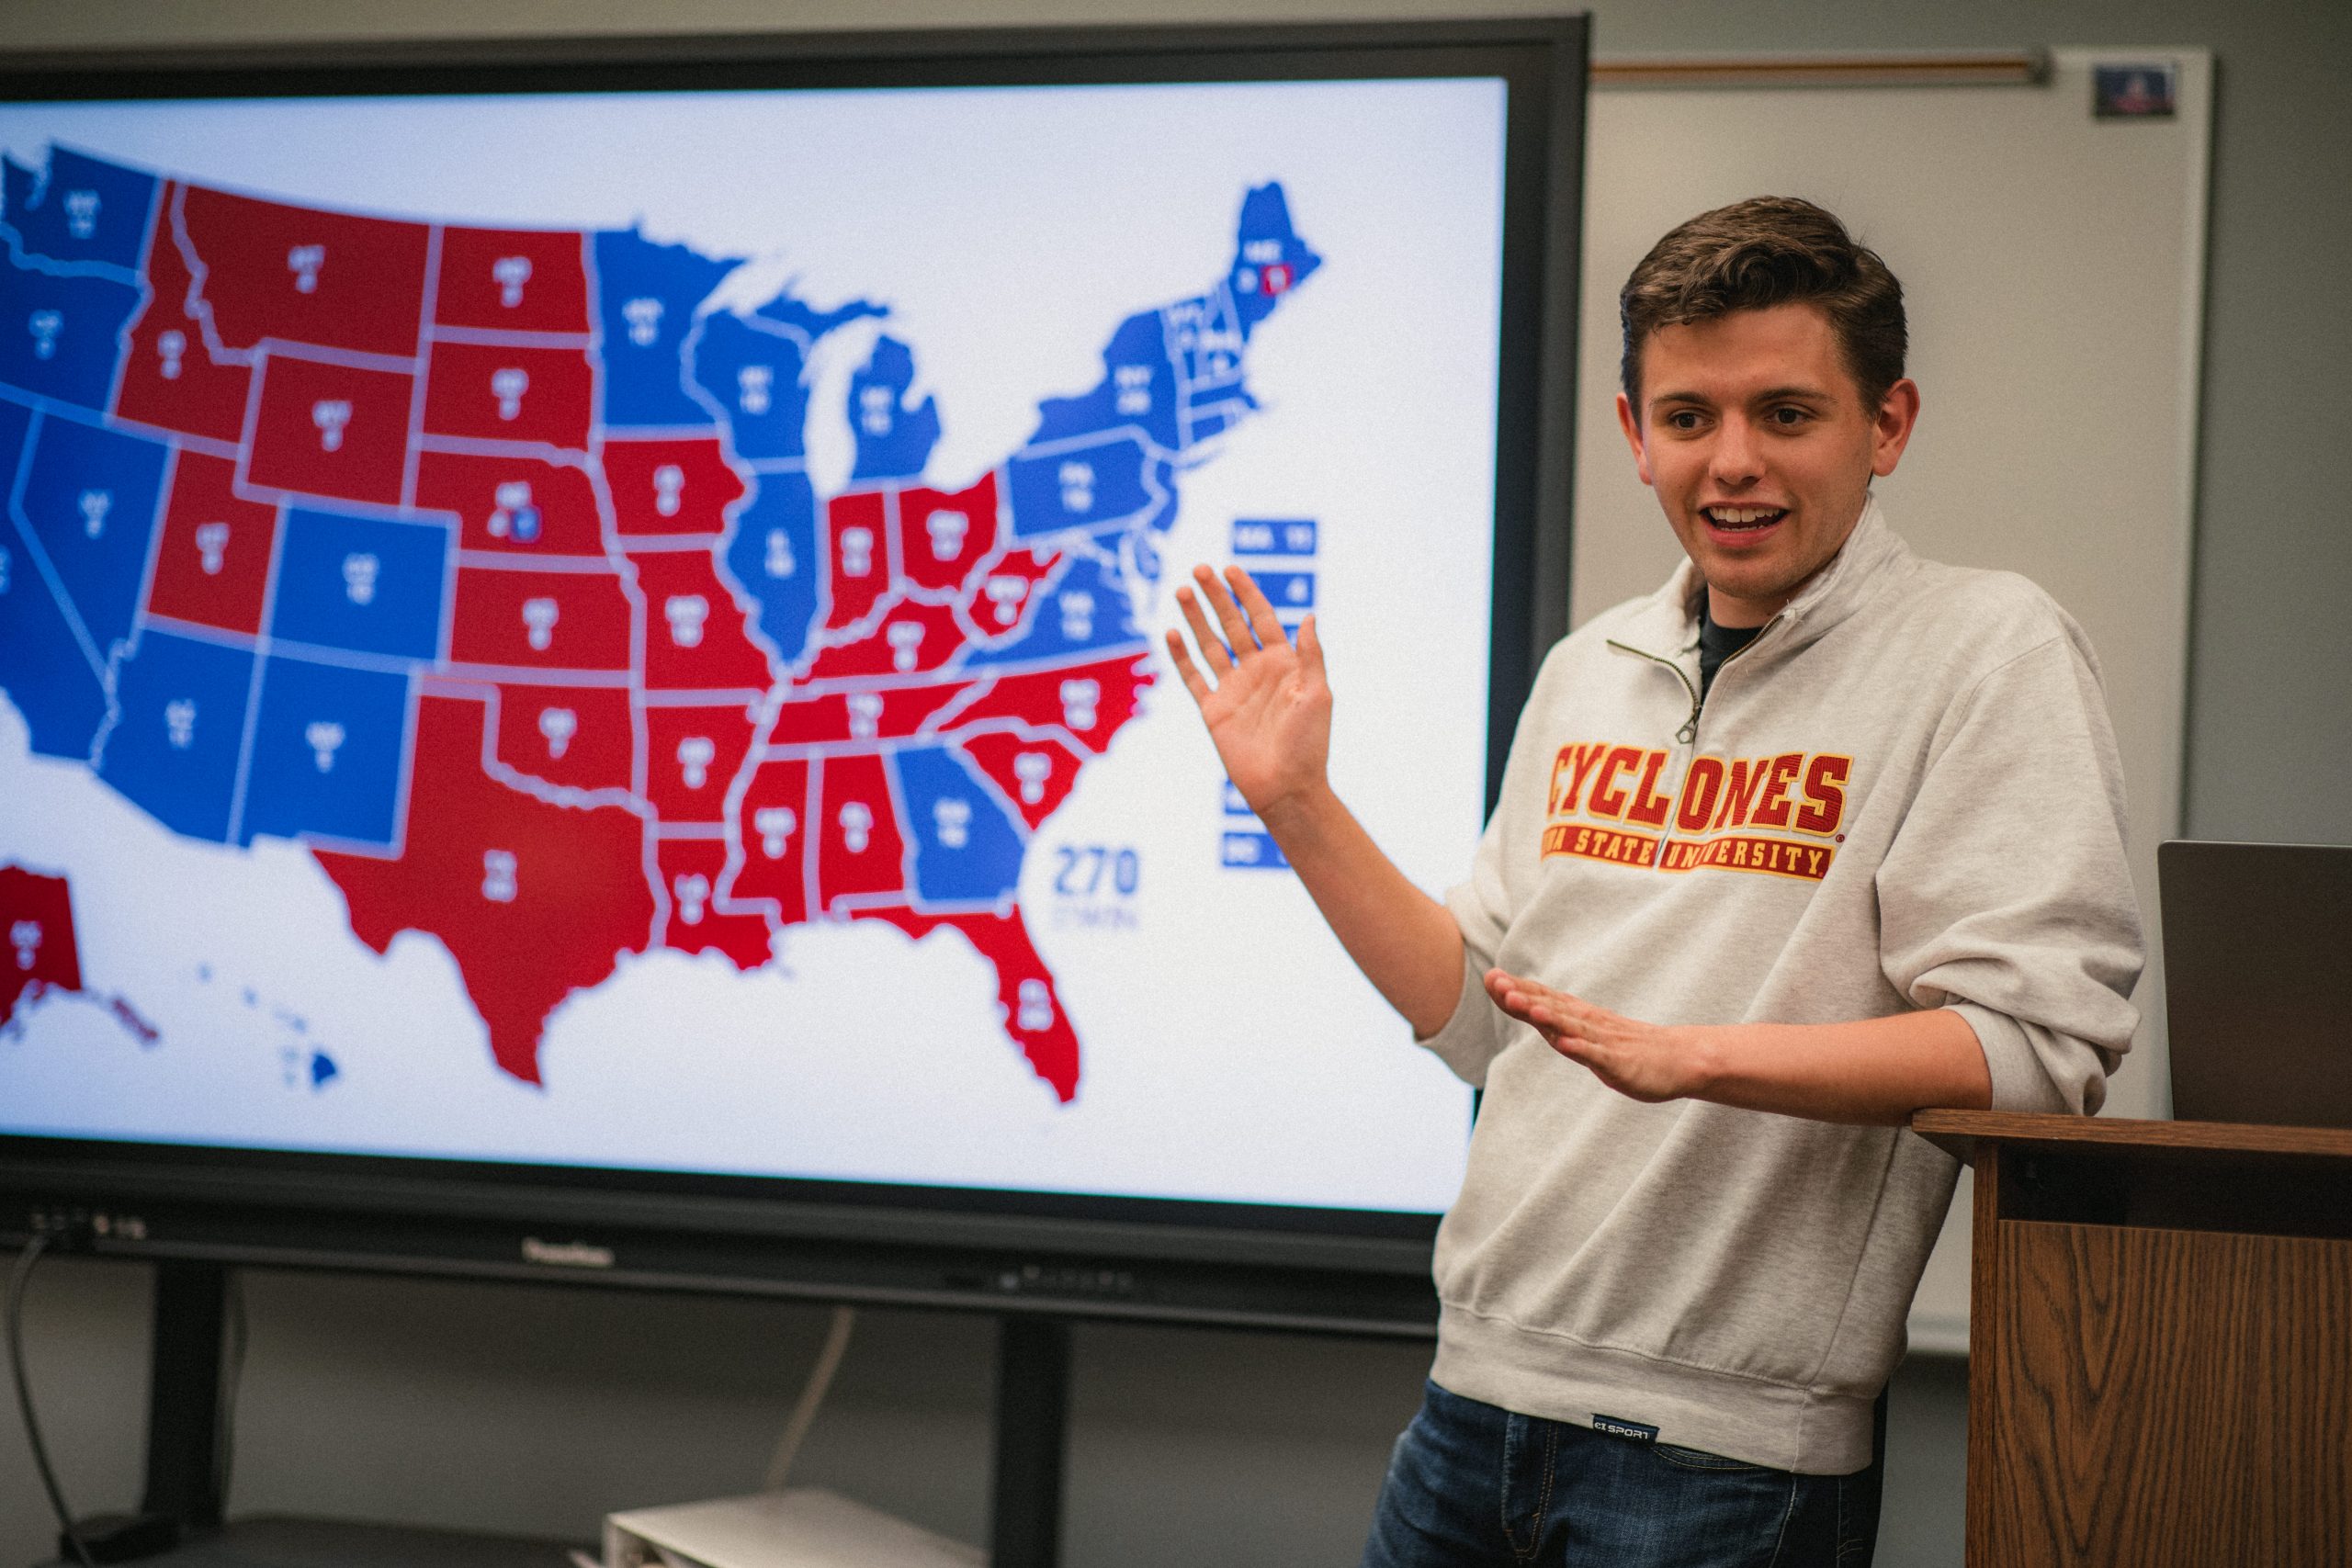
POLYGON ((1178 588, 1176 604, 1200 644, 1200 663, 1192 663, 1192 651, 1176 630, 1169 630, 1169 658, 1200 703, 1225 778, 1263 818, 1324 785, 1331 686, 1324 682, 1315 616, 1305 618, 1298 644, 1291 646, 1275 607, 1240 567, 1225 567, 1223 581, 1207 567, 1195 567, 1192 583, 1197 592, 1178 588), (1204 602, 1223 635, 1209 630, 1204 602))

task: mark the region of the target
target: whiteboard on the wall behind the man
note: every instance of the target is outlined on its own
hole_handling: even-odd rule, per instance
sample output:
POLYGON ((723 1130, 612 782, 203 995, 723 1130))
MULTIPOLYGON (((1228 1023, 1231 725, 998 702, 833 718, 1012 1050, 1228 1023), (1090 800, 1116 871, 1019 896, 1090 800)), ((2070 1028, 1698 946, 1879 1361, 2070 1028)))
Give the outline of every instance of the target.
MULTIPOLYGON (((1611 397, 1616 292, 1675 223, 1748 195, 1839 214, 1903 280, 1922 416, 1879 496, 1931 559, 2023 571, 2098 646, 2147 914, 2107 1114, 2164 1117, 2157 842, 2180 830, 2213 59, 2060 49, 2027 87, 1623 87, 1592 96, 1569 621, 1682 559, 1611 397), (2093 63, 2178 63, 2176 118, 2093 120, 2093 63)), ((1964 1352, 1969 1185, 1912 1309, 1964 1352)))

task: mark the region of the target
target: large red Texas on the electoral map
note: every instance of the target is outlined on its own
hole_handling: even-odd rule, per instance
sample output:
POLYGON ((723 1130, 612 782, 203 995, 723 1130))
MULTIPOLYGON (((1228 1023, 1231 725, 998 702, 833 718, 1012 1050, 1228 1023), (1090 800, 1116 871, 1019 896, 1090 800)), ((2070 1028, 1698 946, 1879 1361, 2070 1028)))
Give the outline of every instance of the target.
POLYGON ((654 929, 644 823, 621 806, 550 806, 482 771, 482 703, 416 705, 407 849, 397 860, 313 851, 350 931, 383 952, 423 931, 456 959, 499 1067, 539 1081, 548 1013, 600 985, 654 929))

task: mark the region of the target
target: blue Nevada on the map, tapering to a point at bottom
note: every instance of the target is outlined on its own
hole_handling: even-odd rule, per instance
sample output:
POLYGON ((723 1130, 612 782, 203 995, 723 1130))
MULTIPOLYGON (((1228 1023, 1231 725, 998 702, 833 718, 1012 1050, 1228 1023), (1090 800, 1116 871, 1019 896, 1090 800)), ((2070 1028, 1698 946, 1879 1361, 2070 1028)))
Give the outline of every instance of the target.
POLYGON ((169 449, 78 418, 35 418, 19 517, 56 567, 99 654, 132 635, 169 449))

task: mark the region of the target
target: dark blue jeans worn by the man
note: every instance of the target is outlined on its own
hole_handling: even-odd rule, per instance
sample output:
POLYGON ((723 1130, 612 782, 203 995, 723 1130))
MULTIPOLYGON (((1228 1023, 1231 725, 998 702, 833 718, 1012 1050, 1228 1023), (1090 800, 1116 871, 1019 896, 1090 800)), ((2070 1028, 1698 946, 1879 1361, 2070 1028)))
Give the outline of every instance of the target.
POLYGON ((1799 1476, 1432 1382, 1388 1460, 1362 1568, 1867 1568, 1879 1469, 1799 1476))

